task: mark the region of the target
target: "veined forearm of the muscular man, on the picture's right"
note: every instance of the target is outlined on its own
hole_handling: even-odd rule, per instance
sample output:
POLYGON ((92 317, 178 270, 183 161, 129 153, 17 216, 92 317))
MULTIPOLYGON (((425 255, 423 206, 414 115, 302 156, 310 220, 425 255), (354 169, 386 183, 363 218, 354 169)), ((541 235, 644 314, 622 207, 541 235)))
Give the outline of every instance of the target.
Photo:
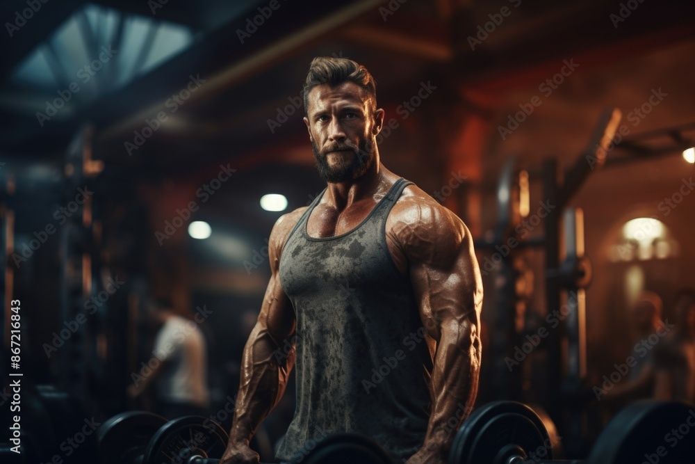
POLYGON ((433 405, 423 448, 448 456, 454 436, 477 397, 480 338, 475 328, 466 333, 442 330, 432 371, 433 405))

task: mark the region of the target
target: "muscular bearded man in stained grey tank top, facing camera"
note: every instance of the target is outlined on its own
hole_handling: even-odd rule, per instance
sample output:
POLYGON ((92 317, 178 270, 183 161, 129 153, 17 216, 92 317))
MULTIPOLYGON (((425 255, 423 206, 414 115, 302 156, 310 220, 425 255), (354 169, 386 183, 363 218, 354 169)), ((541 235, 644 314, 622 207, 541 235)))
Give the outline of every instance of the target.
POLYGON ((345 58, 315 58, 304 110, 327 188, 270 233, 272 276, 244 349, 223 463, 248 443, 296 360, 297 406, 277 458, 336 431, 398 462, 445 463, 480 371, 482 283, 471 233, 379 161, 375 81, 345 58), (295 348, 281 349, 286 340, 295 348))

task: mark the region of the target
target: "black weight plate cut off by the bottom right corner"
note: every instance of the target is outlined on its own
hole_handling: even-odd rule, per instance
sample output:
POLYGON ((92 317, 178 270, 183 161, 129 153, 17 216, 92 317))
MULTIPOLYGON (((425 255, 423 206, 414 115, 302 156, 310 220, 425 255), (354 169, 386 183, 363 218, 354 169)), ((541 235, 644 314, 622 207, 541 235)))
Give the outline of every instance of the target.
POLYGON ((587 462, 693 463, 695 408, 678 401, 632 403, 603 429, 587 462))

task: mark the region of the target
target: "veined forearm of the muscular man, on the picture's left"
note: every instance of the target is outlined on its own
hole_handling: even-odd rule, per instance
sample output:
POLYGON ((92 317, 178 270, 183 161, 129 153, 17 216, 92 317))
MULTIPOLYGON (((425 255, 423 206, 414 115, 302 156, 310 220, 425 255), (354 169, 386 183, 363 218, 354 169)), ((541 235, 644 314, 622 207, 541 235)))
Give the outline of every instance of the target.
POLYGON ((279 351, 267 332, 259 332, 247 342, 241 367, 230 442, 249 442, 263 419, 275 407, 287 386, 295 353, 279 351))

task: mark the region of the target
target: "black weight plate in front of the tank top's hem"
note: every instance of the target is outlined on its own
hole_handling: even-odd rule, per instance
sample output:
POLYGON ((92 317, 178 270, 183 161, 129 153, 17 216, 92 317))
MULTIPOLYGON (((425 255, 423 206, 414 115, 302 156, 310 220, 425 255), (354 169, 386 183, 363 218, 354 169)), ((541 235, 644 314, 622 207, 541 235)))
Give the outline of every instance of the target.
POLYGON ((393 464, 386 451, 370 438, 354 433, 334 433, 313 449, 300 450, 291 463, 302 464, 393 464))

